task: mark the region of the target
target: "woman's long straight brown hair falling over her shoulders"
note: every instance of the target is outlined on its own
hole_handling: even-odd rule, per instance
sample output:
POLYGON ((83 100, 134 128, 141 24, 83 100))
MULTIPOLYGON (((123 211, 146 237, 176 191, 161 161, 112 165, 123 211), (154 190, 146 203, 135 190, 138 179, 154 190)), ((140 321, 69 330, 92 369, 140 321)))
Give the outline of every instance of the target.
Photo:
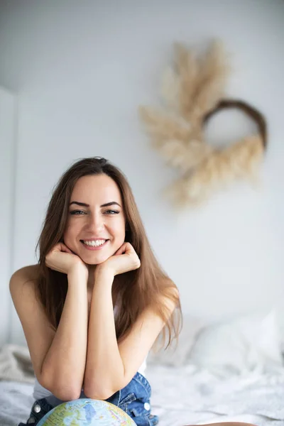
POLYGON ((166 323, 163 340, 165 342, 167 335, 167 343, 170 344, 173 337, 178 337, 180 332, 181 309, 178 292, 173 292, 175 284, 160 268, 153 254, 129 182, 121 170, 105 158, 90 157, 77 161, 62 175, 53 191, 37 244, 40 252, 37 287, 39 300, 50 324, 56 329, 67 294, 67 275, 45 266, 45 256, 55 244, 63 241, 70 197, 77 180, 82 176, 100 174, 108 175, 119 187, 126 215, 125 241, 133 246, 141 261, 141 266, 136 271, 116 275, 114 278, 113 291, 121 300, 121 309, 116 317, 117 339, 125 337, 138 315, 146 307, 151 307, 166 323), (169 315, 165 297, 175 303, 173 315, 169 315))

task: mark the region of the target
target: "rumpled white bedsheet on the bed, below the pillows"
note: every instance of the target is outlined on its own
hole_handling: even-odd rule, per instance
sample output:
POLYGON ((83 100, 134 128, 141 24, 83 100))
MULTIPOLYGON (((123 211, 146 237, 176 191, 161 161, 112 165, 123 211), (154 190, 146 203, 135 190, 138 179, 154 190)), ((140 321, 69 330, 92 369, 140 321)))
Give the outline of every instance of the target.
MULTIPOLYGON (((149 366, 152 412, 159 426, 184 426, 219 421, 284 426, 284 368, 273 373, 250 373, 244 378, 216 378, 195 366, 149 366)), ((0 425, 26 421, 33 386, 0 381, 0 425)))

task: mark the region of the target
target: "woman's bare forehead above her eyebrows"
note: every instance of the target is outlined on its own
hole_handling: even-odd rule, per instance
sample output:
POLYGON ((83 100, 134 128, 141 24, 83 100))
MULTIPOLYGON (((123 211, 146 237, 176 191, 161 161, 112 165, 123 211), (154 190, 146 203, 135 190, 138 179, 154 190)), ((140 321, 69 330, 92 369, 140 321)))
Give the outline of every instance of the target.
POLYGON ((111 201, 122 203, 119 187, 107 175, 89 175, 77 180, 70 201, 87 204, 104 204, 111 201))

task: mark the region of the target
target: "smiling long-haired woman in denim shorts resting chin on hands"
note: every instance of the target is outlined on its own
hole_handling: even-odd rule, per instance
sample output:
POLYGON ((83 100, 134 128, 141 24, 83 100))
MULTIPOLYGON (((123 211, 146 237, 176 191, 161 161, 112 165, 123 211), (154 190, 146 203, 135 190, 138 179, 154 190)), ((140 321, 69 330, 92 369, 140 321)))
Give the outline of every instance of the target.
POLYGON ((36 376, 27 424, 80 397, 108 400, 137 425, 158 424, 143 373, 161 330, 168 344, 178 335, 180 300, 120 170, 104 158, 72 165, 55 187, 38 246, 38 265, 10 283, 36 376))

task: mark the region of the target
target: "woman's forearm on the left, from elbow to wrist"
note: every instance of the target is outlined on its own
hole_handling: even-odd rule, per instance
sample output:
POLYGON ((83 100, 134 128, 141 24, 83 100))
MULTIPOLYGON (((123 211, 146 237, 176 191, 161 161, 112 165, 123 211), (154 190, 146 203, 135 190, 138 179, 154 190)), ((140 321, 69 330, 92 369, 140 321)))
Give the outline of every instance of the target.
POLYGON ((87 353, 87 277, 80 269, 67 277, 58 329, 40 371, 43 386, 62 400, 80 397, 87 353))

